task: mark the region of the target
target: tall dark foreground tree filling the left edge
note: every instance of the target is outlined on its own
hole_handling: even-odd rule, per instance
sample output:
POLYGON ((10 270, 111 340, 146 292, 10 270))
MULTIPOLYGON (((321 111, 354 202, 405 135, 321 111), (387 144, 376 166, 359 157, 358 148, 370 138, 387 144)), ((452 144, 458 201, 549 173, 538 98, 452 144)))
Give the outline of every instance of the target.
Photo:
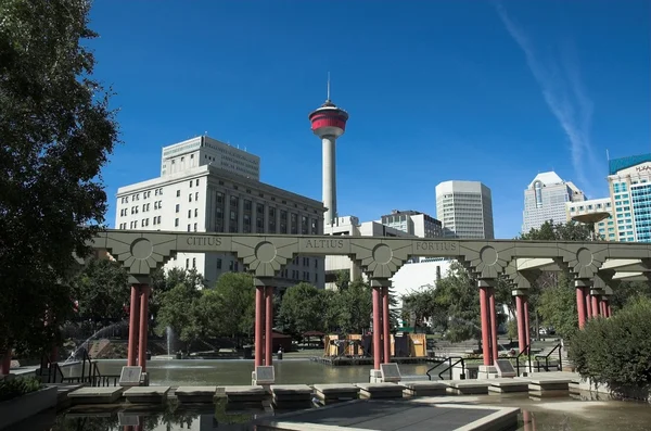
POLYGON ((118 132, 81 45, 97 37, 89 11, 86 0, 0 2, 0 351, 52 342, 72 308, 73 252, 88 255, 104 221, 100 169, 118 132))

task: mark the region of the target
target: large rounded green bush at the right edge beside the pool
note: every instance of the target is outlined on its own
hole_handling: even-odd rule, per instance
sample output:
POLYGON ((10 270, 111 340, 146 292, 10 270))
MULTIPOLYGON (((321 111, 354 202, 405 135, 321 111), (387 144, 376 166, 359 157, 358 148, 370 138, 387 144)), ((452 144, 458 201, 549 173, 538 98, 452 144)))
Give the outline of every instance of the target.
POLYGON ((577 371, 615 394, 651 389, 651 300, 639 299, 609 319, 586 322, 570 340, 577 371))

